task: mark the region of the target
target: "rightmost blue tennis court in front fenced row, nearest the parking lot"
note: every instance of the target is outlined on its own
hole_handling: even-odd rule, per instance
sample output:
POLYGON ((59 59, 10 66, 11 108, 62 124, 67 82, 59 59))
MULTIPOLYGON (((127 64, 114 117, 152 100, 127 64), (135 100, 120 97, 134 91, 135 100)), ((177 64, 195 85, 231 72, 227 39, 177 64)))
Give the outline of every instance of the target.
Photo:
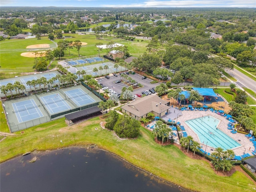
POLYGON ((64 92, 69 99, 71 99, 77 106, 86 105, 95 102, 88 93, 84 92, 82 89, 73 89, 64 92))

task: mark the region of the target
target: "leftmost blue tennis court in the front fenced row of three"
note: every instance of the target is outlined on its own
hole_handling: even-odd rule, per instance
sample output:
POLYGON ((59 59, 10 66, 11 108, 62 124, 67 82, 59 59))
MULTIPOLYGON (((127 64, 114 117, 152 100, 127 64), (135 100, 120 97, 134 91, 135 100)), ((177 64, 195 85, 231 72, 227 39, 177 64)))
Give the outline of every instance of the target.
POLYGON ((12 103, 12 107, 19 123, 44 116, 34 99, 12 103))

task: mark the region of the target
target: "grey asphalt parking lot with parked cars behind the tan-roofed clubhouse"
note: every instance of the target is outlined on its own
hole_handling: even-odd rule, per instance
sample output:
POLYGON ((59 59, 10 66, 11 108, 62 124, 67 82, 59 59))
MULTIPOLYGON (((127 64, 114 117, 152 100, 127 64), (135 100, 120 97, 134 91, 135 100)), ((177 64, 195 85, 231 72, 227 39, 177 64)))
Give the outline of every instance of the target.
MULTIPOLYGON (((128 74, 129 77, 131 77, 132 79, 136 80, 136 82, 142 84, 144 87, 142 88, 138 88, 138 89, 134 89, 133 90, 133 94, 141 94, 142 91, 145 90, 149 90, 153 87, 156 87, 157 85, 159 85, 159 83, 156 84, 150 84, 150 82, 152 81, 149 78, 146 79, 142 79, 142 75, 140 74, 128 74)), ((96 80, 98 80, 99 83, 102 83, 104 86, 107 86, 108 89, 112 89, 113 91, 117 92, 117 93, 121 93, 122 88, 123 87, 127 87, 128 85, 124 84, 124 83, 115 83, 118 80, 122 80, 122 77, 120 77, 120 74, 117 74, 117 77, 110 75, 109 79, 106 79, 105 77, 101 77, 101 78, 97 78, 96 80)))

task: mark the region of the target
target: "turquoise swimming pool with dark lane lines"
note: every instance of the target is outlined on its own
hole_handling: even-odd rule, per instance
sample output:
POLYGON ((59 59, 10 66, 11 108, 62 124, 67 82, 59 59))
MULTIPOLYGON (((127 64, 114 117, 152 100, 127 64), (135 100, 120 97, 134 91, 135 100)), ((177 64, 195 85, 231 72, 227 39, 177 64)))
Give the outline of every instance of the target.
POLYGON ((196 119, 185 121, 186 124, 198 135, 200 142, 211 146, 212 148, 220 147, 224 150, 241 146, 230 136, 218 128, 220 120, 213 116, 204 116, 196 119))

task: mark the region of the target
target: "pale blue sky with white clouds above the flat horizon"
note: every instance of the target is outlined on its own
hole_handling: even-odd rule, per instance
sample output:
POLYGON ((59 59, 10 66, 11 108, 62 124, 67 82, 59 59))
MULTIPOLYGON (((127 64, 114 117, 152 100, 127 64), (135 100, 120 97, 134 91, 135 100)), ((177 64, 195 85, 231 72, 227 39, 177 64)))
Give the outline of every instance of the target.
POLYGON ((0 0, 1 6, 256 8, 256 0, 0 0))

